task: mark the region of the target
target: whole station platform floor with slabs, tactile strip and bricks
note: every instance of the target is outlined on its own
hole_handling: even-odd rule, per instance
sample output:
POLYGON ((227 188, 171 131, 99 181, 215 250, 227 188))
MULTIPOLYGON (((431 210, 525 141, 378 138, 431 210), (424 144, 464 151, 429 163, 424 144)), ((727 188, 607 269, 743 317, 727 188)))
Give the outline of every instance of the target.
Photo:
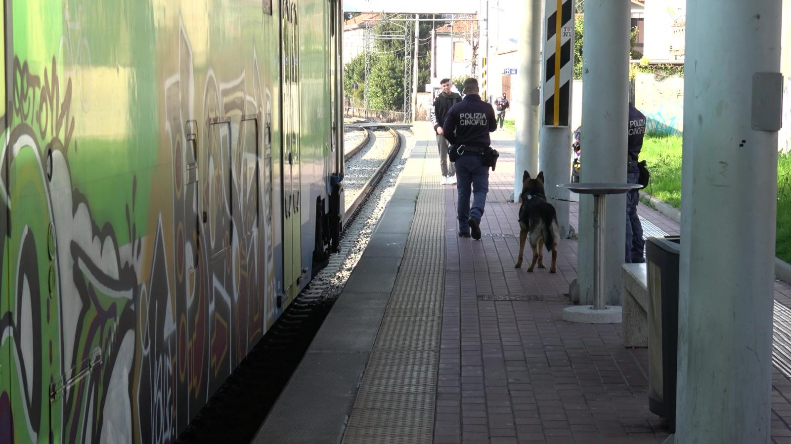
MULTIPOLYGON (((577 241, 561 241, 558 273, 513 268, 513 135, 493 134, 501 156, 476 241, 457 235, 456 188, 439 184, 430 126, 414 133, 365 254, 254 442, 664 442, 648 349, 624 348, 621 324, 562 320, 577 241)), ((638 213, 647 236, 679 232, 645 205, 638 213)), ((775 305, 776 331, 791 331, 791 286, 779 280, 775 305)), ((784 368, 773 374, 778 443, 791 442, 784 368)))

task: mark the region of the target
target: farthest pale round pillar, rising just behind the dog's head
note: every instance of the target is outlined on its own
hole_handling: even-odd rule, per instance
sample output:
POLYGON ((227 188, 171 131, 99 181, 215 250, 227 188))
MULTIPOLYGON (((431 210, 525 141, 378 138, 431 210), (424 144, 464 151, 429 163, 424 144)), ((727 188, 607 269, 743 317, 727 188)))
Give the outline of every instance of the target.
POLYGON ((541 6, 543 0, 524 2, 524 32, 519 38, 519 66, 513 105, 517 127, 514 155, 513 201, 522 192, 522 173, 539 174, 539 92, 541 85, 541 6), (533 172, 536 171, 536 172, 533 172))

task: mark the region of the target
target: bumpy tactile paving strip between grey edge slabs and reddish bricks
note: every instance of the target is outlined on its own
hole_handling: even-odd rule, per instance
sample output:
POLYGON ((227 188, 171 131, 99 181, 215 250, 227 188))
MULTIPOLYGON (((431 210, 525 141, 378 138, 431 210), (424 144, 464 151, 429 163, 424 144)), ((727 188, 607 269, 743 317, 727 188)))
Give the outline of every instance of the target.
POLYGON ((437 149, 429 145, 412 155, 423 156, 424 166, 414 220, 344 443, 433 438, 445 287, 445 204, 437 149))

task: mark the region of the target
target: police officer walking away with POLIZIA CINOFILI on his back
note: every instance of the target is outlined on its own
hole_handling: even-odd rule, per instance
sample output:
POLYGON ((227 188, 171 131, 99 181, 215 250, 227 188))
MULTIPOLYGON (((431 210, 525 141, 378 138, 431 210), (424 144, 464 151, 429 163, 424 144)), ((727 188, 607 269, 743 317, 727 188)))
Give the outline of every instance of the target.
POLYGON ((477 80, 464 81, 464 94, 464 100, 448 111, 442 130, 452 144, 450 149, 460 155, 456 159, 459 235, 470 237, 472 234, 472 239, 481 239, 480 222, 489 192, 489 166, 484 164, 483 154, 490 149, 489 133, 497 130, 497 118, 492 106, 478 95, 477 80))

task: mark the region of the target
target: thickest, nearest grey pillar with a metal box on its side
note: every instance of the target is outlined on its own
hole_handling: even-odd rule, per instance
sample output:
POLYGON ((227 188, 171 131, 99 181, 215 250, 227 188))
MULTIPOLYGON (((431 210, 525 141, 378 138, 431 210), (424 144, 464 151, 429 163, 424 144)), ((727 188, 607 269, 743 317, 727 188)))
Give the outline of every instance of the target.
POLYGON ((781 17, 687 2, 676 442, 770 442, 781 17))

